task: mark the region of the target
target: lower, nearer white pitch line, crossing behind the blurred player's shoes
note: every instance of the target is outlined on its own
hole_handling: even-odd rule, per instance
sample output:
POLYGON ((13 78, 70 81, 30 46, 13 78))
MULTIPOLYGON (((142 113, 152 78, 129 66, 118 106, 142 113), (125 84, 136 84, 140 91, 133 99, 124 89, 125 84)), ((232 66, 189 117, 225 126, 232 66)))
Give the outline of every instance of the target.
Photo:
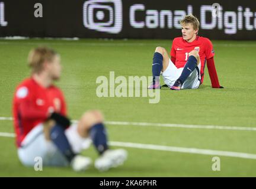
MULTIPOLYGON (((14 138, 14 133, 0 132, 0 136, 14 138)), ((139 148, 139 149, 151 149, 157 151, 170 151, 170 152, 181 152, 187 154, 201 154, 201 155, 219 155, 232 158, 244 158, 244 159, 256 159, 256 154, 247 154, 242 152, 229 152, 229 151, 217 151, 212 149, 199 149, 199 148, 183 148, 177 146, 162 146, 153 144, 139 144, 132 142, 117 142, 110 141, 111 146, 120 146, 126 148, 139 148)))

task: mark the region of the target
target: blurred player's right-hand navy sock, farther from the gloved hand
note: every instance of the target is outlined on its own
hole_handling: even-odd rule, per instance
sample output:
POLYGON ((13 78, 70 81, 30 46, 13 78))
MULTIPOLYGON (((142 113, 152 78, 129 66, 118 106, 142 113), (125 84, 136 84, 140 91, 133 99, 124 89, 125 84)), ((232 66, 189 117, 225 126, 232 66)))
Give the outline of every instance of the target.
POLYGON ((98 153, 100 155, 103 154, 108 149, 107 132, 105 131, 103 123, 97 123, 92 126, 89 134, 98 153))

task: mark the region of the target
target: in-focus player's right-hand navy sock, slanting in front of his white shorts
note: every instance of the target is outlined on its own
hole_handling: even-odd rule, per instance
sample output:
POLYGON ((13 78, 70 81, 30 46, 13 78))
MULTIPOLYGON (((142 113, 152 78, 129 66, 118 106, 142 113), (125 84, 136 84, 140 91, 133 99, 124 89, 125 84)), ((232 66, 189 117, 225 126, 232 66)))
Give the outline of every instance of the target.
POLYGON ((184 66, 184 69, 181 73, 181 76, 178 78, 178 80, 181 81, 181 84, 185 82, 185 80, 188 78, 188 76, 196 69, 197 67, 197 58, 194 56, 189 56, 187 63, 184 66))

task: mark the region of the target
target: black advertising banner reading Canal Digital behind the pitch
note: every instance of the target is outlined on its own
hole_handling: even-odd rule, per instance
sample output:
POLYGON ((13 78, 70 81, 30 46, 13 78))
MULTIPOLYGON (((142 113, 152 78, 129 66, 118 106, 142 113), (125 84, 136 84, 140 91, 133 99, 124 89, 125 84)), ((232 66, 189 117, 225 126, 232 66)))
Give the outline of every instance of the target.
POLYGON ((0 0, 0 37, 172 39, 187 14, 211 40, 256 40, 256 1, 249 0, 0 0))

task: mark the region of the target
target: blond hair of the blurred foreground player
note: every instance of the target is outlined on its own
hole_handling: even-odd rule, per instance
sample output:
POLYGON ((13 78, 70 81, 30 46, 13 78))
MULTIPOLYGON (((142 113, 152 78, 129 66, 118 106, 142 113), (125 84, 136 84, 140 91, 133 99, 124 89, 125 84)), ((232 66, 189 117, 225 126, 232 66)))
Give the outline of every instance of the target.
POLYGON ((53 61, 56 55, 56 51, 48 47, 34 48, 28 54, 28 66, 31 67, 32 73, 40 73, 43 70, 43 63, 53 61))

